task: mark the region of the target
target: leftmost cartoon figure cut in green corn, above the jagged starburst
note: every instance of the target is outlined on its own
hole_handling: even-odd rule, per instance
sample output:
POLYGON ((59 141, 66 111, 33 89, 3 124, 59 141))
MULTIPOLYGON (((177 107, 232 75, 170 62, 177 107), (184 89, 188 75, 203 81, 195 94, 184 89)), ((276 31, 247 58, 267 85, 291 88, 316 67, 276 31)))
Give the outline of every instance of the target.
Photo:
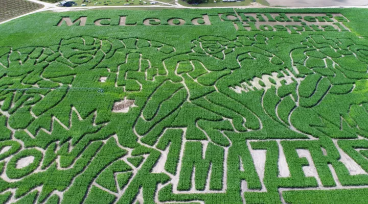
POLYGON ((74 108, 86 110, 84 117, 93 111, 106 112, 119 95, 139 92, 141 79, 152 81, 156 74, 165 75, 162 59, 174 50, 145 39, 90 36, 62 39, 49 47, 2 47, 2 111, 26 114, 29 121, 14 121, 22 123, 21 128, 38 117, 69 115, 74 108), (73 104, 64 103, 65 97, 78 92, 84 94, 81 100, 74 97, 73 104), (60 106, 65 113, 57 113, 60 106))

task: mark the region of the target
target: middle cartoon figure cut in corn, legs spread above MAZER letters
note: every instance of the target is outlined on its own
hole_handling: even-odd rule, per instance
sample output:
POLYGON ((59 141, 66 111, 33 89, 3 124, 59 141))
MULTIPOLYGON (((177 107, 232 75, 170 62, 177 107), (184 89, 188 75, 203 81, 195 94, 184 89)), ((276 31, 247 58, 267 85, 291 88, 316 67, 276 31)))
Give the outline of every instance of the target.
POLYGON ((247 132, 261 129, 262 122, 258 114, 229 96, 229 87, 222 86, 221 81, 236 76, 239 69, 248 69, 251 76, 261 76, 264 66, 270 71, 283 70, 284 62, 267 51, 267 48, 281 43, 282 38, 267 39, 263 35, 239 36, 233 40, 201 36, 193 40, 192 52, 175 55, 164 61, 171 80, 155 90, 137 120, 135 130, 144 136, 142 141, 153 145, 159 137, 157 133, 167 127, 161 124, 170 120, 169 117, 176 117, 172 113, 180 115, 191 112, 187 109, 197 109, 192 110, 197 114, 190 119, 187 117, 186 121, 176 121, 178 127, 188 128, 187 138, 209 139, 228 146, 230 141, 221 133, 223 130, 247 132), (246 60, 249 62, 245 63, 246 60), (249 70, 249 65, 254 69, 249 70), (162 98, 163 92, 166 92, 165 99, 162 98), (159 100, 160 103, 157 103, 159 100), (165 103, 172 104, 172 109, 164 109, 165 103), (204 124, 209 123, 211 127, 204 127, 204 124), (210 129, 213 130, 206 137, 207 134, 203 133, 210 129))

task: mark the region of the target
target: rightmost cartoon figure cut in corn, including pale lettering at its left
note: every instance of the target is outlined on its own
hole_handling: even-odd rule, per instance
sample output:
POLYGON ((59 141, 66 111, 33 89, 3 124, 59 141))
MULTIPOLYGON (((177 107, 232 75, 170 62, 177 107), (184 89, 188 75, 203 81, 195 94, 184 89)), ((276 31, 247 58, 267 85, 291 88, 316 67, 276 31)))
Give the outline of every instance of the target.
POLYGON ((291 67, 242 82, 237 93, 265 90, 274 121, 309 138, 366 136, 368 47, 349 38, 311 35, 290 52, 291 67))

